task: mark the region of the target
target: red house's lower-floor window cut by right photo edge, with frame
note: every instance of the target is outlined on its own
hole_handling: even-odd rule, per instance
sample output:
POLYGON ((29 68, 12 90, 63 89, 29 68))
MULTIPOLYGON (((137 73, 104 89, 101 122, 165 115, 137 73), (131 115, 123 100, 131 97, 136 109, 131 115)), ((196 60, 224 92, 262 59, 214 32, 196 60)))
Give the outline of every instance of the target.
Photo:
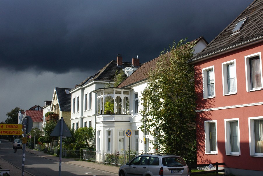
POLYGON ((263 117, 248 118, 250 156, 263 157, 263 117))

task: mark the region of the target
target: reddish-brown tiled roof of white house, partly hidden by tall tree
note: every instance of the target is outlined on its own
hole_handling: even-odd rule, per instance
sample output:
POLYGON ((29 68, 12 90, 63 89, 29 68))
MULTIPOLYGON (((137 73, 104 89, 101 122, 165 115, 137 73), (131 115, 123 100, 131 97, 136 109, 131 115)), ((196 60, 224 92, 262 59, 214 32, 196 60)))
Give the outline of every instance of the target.
MULTIPOLYGON (((190 44, 194 44, 195 42, 199 42, 202 39, 204 40, 204 42, 206 42, 204 37, 199 37, 198 39, 191 41, 190 44)), ((167 53, 167 55, 170 55, 170 53, 167 53)), ((117 87, 119 87, 119 88, 125 88, 126 87, 127 88, 132 84, 136 84, 138 82, 142 82, 144 80, 147 80, 148 76, 149 76, 149 71, 155 69, 156 62, 159 59, 160 59, 160 56, 149 61, 149 62, 144 63, 143 65, 141 65, 140 68, 138 68, 134 73, 132 73, 129 77, 127 77, 127 79, 125 79, 117 87)))

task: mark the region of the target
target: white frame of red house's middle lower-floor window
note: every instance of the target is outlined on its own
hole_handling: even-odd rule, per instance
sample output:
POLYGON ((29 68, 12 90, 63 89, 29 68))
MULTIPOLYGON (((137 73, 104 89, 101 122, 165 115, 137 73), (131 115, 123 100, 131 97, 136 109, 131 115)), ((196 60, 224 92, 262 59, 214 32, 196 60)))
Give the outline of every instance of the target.
POLYGON ((239 118, 225 119, 225 146, 226 146, 226 155, 240 155, 240 130, 239 130, 239 118), (236 121, 238 124, 238 144, 239 152, 231 152, 231 140, 230 140, 230 123, 236 121))

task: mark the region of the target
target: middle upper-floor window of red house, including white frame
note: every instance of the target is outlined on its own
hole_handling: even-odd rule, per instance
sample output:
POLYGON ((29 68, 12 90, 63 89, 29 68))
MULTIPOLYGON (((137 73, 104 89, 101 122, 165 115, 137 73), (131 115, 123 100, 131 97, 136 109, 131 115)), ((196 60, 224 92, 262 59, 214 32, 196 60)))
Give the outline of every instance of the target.
POLYGON ((236 60, 222 63, 223 94, 235 94, 236 83, 236 60))

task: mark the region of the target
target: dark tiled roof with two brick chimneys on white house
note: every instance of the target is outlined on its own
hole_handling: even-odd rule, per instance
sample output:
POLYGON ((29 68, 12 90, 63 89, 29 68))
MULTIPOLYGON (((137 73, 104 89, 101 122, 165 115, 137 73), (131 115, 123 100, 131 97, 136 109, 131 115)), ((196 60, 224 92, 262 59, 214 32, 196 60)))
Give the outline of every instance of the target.
MULTIPOLYGON (((140 65, 142 64, 140 63, 140 65)), ((72 90, 77 89, 78 87, 88 84, 89 82, 92 82, 94 80, 114 82, 116 70, 124 72, 126 67, 133 67, 132 63, 122 62, 122 66, 118 66, 117 61, 111 61, 106 66, 104 66, 101 70, 99 70, 95 75, 88 77, 86 80, 84 80, 82 83, 80 83, 78 86, 76 86, 72 90)), ((123 78, 126 79, 127 75, 123 74, 123 78)))

